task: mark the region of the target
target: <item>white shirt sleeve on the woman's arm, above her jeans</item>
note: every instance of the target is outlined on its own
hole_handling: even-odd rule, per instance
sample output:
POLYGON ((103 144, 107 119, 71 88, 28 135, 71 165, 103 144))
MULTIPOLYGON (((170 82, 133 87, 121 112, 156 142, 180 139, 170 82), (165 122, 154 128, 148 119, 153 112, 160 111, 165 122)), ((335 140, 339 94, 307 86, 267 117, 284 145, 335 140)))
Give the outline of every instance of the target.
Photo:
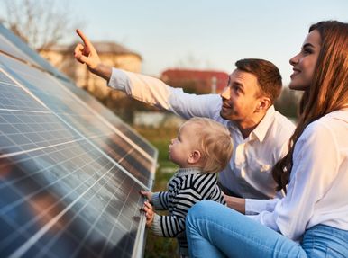
POLYGON ((274 211, 264 210, 253 218, 290 239, 300 240, 316 202, 336 177, 338 155, 332 131, 319 121, 309 125, 294 149, 287 195, 276 203, 274 211))

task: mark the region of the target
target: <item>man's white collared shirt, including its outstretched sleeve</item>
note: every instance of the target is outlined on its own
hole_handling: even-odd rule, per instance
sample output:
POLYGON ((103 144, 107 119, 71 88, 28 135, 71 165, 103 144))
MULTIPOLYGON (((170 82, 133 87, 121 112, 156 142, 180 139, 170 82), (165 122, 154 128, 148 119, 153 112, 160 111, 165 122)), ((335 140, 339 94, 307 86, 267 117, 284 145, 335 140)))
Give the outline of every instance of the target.
POLYGON ((184 93, 157 78, 116 68, 113 68, 108 85, 185 119, 207 117, 224 124, 234 139, 234 155, 229 165, 219 173, 219 182, 243 198, 268 199, 277 194, 271 168, 288 152, 288 139, 295 125, 273 106, 249 137, 243 138, 233 121, 221 118, 222 99, 218 94, 184 93))

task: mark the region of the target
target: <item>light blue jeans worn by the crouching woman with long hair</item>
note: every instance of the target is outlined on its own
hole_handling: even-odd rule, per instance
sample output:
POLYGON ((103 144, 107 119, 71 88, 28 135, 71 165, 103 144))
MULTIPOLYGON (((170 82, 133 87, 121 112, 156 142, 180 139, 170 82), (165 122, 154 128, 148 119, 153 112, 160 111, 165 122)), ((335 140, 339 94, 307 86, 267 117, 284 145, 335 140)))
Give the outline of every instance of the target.
POLYGON ((301 244, 211 200, 188 210, 190 257, 348 257, 348 231, 308 229, 301 244))

